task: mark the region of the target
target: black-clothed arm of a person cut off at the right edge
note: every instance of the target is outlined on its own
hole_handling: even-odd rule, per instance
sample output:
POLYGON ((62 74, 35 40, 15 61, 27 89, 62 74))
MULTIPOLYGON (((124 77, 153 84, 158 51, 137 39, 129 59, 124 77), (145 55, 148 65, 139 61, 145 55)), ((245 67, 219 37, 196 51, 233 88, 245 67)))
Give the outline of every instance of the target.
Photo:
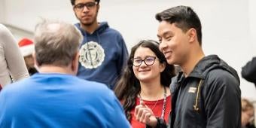
POLYGON ((242 78, 253 82, 256 86, 256 57, 253 57, 251 61, 247 62, 246 65, 242 67, 241 74, 242 78))

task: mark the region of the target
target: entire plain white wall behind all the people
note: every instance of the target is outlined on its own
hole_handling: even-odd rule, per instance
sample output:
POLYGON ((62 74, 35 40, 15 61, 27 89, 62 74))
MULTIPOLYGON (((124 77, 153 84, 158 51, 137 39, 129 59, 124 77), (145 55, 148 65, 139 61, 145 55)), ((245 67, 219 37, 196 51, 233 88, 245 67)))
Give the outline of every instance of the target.
MULTIPOLYGON (((29 31, 33 31, 40 17, 77 22, 69 0, 0 2, 5 2, 5 17, 0 22, 29 31)), ((154 15, 176 5, 191 6, 199 15, 203 24, 203 49, 206 55, 218 54, 240 75, 241 67, 256 55, 254 0, 102 0, 99 21, 106 20, 111 27, 119 30, 130 50, 140 39, 157 39, 158 23, 154 15)), ((256 88, 242 78, 241 90, 242 96, 256 99, 256 88)))

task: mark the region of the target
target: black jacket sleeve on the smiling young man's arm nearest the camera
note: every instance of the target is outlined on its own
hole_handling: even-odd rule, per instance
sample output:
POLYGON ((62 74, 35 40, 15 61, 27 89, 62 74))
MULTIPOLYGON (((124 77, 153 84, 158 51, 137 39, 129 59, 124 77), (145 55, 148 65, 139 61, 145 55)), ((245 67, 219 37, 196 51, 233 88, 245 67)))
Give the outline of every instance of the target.
POLYGON ((239 81, 228 72, 212 71, 206 78, 203 96, 206 127, 241 127, 241 92, 239 81))

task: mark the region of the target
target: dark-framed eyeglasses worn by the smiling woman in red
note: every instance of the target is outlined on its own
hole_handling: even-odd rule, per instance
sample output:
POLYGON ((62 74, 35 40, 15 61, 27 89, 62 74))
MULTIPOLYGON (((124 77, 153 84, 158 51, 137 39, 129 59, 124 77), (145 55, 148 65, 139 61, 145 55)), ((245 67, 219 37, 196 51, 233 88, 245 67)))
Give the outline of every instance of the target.
POLYGON ((139 67, 142 65, 142 62, 144 62, 147 66, 152 66, 157 59, 156 56, 146 56, 145 59, 140 58, 133 58, 133 66, 139 67))

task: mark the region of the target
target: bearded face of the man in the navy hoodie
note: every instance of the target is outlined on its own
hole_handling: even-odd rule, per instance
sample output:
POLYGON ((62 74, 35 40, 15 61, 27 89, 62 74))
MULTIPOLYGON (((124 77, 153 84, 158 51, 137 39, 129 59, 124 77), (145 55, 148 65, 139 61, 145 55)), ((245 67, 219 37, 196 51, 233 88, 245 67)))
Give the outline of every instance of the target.
POLYGON ((91 26, 93 23, 97 23, 97 15, 99 11, 99 5, 95 5, 94 0, 76 0, 73 7, 75 16, 78 18, 82 26, 91 26), (94 3, 94 5, 93 5, 94 3), (87 4, 90 6, 87 8, 79 8, 81 5, 87 4))

